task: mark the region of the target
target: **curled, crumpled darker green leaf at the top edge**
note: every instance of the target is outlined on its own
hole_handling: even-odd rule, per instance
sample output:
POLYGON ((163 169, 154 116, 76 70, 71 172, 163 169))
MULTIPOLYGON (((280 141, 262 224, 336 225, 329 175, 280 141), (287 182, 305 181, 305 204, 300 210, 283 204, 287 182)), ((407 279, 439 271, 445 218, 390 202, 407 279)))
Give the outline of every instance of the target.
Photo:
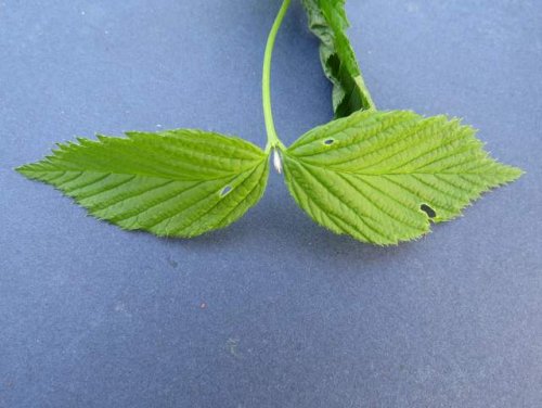
POLYGON ((302 2, 309 17, 309 27, 321 41, 322 67, 333 82, 335 117, 374 109, 352 47, 346 36, 349 26, 345 12, 346 0, 302 0, 302 2))

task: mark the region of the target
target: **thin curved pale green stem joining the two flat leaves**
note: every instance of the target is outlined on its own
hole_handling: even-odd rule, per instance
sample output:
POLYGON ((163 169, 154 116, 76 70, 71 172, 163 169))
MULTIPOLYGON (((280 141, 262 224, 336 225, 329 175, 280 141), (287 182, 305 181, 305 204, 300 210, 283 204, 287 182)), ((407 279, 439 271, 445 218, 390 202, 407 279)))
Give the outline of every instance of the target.
POLYGON ((273 55, 274 41, 276 39, 276 33, 281 27, 284 15, 288 10, 291 0, 284 0, 273 23, 273 27, 269 33, 268 43, 266 46, 266 54, 263 56, 263 75, 261 78, 261 94, 263 103, 263 117, 266 119, 266 130, 268 133, 268 144, 266 151, 269 152, 273 148, 284 149, 284 144, 279 139, 276 130, 274 128, 273 122, 273 111, 271 109, 271 58, 273 55))

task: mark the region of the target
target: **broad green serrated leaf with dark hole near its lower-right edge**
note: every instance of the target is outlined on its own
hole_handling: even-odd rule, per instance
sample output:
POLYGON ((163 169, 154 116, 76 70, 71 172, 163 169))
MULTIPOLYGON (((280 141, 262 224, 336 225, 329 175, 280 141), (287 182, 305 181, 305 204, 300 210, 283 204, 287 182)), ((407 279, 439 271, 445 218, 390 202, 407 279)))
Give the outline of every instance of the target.
POLYGON ((310 130, 283 156, 288 189, 314 221, 380 245, 421 237, 431 219, 452 219, 521 175, 489 157, 460 120, 408 111, 354 113, 310 130))

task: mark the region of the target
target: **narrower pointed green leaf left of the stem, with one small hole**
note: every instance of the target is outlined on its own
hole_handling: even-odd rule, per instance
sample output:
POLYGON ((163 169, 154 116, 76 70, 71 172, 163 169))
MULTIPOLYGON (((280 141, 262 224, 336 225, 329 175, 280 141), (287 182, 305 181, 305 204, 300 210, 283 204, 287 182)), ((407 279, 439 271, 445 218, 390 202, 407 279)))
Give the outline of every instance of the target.
POLYGON ((194 237, 237 220, 261 197, 268 155, 242 139, 198 130, 128 132, 60 144, 17 168, 127 230, 194 237))

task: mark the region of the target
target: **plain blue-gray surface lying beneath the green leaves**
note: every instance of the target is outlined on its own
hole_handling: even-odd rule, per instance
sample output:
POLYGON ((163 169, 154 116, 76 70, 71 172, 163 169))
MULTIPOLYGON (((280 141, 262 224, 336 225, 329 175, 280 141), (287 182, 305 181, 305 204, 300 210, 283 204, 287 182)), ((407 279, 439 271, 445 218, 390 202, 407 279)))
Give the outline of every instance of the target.
MULTIPOLYGON (((542 2, 350 0, 382 109, 448 113, 527 170, 418 242, 334 235, 272 174, 191 241, 124 232, 12 168, 101 131, 264 143, 279 0, 0 1, 0 407, 542 406, 542 2)), ((287 142, 331 118, 297 1, 273 64, 287 142)))

